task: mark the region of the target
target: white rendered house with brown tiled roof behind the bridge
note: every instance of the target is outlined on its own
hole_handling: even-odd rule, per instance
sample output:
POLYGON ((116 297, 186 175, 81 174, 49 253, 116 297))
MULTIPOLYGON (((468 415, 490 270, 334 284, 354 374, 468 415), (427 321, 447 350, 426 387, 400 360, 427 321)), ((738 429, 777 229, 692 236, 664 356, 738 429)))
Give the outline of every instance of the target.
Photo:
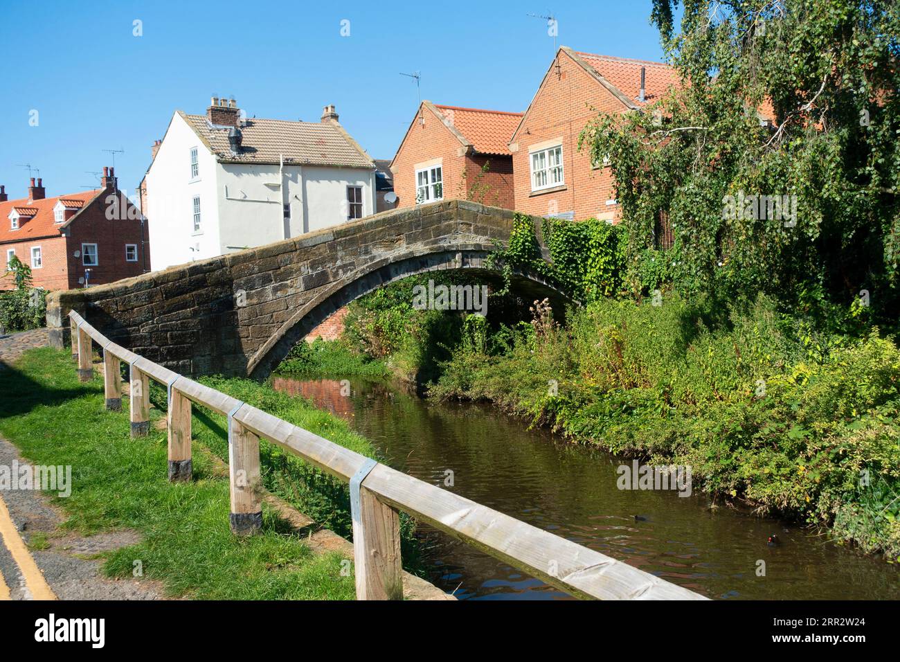
POLYGON ((141 183, 153 268, 262 246, 375 213, 375 166, 338 123, 246 119, 213 97, 176 111, 141 183))

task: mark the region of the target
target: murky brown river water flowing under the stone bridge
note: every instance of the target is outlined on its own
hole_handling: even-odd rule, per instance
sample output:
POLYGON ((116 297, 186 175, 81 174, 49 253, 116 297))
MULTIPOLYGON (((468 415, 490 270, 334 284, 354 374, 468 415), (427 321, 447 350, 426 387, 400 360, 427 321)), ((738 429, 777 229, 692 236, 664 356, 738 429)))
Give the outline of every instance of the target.
MULTIPOLYGON (((706 494, 619 489, 617 467, 628 461, 528 430, 488 406, 438 404, 380 382, 351 380, 349 396, 337 380, 275 376, 273 385, 346 419, 395 469, 710 598, 900 597, 896 565, 821 531, 711 511, 706 494), (778 547, 767 544, 771 533, 778 547)), ((419 539, 428 580, 460 599, 569 598, 428 526, 419 539)))

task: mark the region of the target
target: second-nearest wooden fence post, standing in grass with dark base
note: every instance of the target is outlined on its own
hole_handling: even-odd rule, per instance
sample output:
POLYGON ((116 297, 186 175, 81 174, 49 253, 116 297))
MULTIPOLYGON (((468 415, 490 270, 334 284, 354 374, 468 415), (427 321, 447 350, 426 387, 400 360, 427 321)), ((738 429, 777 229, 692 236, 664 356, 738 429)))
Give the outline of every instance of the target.
POLYGON ((238 404, 228 415, 229 519, 232 533, 247 536, 263 527, 263 502, 259 437, 234 420, 242 406, 238 404))

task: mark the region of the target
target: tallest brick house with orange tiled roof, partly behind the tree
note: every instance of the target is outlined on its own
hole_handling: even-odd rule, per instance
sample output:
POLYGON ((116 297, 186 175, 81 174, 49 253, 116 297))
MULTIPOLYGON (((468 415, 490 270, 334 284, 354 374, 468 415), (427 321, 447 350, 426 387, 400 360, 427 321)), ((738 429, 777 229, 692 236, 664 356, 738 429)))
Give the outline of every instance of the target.
POLYGON ((579 133, 599 112, 639 111, 678 85, 676 71, 661 62, 560 48, 509 141, 516 209, 617 221, 610 169, 578 150, 579 133))

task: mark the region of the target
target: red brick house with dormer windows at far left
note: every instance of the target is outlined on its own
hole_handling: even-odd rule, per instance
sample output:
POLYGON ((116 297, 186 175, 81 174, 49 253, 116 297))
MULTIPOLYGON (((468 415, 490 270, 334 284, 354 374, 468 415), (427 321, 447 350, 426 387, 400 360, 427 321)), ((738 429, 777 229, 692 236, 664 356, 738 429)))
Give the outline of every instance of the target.
POLYGON ((121 193, 112 168, 101 188, 47 197, 31 178, 28 197, 9 200, 0 186, 0 289, 14 289, 6 272, 15 255, 31 267, 33 285, 74 289, 139 276, 150 270, 148 238, 138 208, 121 193))

